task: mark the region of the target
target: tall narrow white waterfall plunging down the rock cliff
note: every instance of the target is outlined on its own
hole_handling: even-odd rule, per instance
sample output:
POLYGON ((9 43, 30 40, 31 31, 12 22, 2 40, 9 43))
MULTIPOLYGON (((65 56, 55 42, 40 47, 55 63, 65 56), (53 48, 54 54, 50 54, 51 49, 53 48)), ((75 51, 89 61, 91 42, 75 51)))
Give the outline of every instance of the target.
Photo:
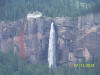
POLYGON ((48 48, 48 64, 49 68, 56 67, 56 44, 55 44, 55 29, 54 29, 54 23, 51 23, 51 29, 50 29, 50 36, 49 36, 49 48, 48 48))

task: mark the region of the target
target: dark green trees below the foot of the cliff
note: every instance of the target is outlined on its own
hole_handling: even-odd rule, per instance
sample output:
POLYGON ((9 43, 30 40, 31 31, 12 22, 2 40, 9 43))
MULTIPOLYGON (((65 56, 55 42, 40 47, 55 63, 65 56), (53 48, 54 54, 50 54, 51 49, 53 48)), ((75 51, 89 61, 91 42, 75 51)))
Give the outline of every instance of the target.
POLYGON ((10 52, 0 52, 0 75, 100 75, 99 58, 87 63, 94 63, 94 68, 79 69, 64 64, 50 70, 46 64, 28 64, 26 59, 22 60, 10 52))

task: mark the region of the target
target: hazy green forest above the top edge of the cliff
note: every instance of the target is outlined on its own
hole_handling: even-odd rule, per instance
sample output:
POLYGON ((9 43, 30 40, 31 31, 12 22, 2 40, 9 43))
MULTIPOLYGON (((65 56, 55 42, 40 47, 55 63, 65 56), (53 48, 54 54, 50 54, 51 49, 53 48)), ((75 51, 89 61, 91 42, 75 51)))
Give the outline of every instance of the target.
POLYGON ((0 20, 17 20, 33 11, 49 17, 77 16, 90 12, 91 7, 98 11, 99 6, 99 0, 0 0, 0 20), (82 8, 82 3, 88 8, 82 8))

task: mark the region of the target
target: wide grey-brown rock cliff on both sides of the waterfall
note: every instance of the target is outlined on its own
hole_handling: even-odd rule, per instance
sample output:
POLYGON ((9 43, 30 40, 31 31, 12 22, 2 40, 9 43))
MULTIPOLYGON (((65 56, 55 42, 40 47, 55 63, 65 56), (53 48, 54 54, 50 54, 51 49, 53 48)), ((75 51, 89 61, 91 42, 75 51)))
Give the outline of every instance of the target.
POLYGON ((16 22, 0 22, 0 50, 13 50, 20 54, 20 33, 23 32, 25 58, 29 63, 47 63, 50 25, 56 29, 57 64, 66 61, 86 60, 100 53, 100 14, 78 18, 20 19, 16 22))

